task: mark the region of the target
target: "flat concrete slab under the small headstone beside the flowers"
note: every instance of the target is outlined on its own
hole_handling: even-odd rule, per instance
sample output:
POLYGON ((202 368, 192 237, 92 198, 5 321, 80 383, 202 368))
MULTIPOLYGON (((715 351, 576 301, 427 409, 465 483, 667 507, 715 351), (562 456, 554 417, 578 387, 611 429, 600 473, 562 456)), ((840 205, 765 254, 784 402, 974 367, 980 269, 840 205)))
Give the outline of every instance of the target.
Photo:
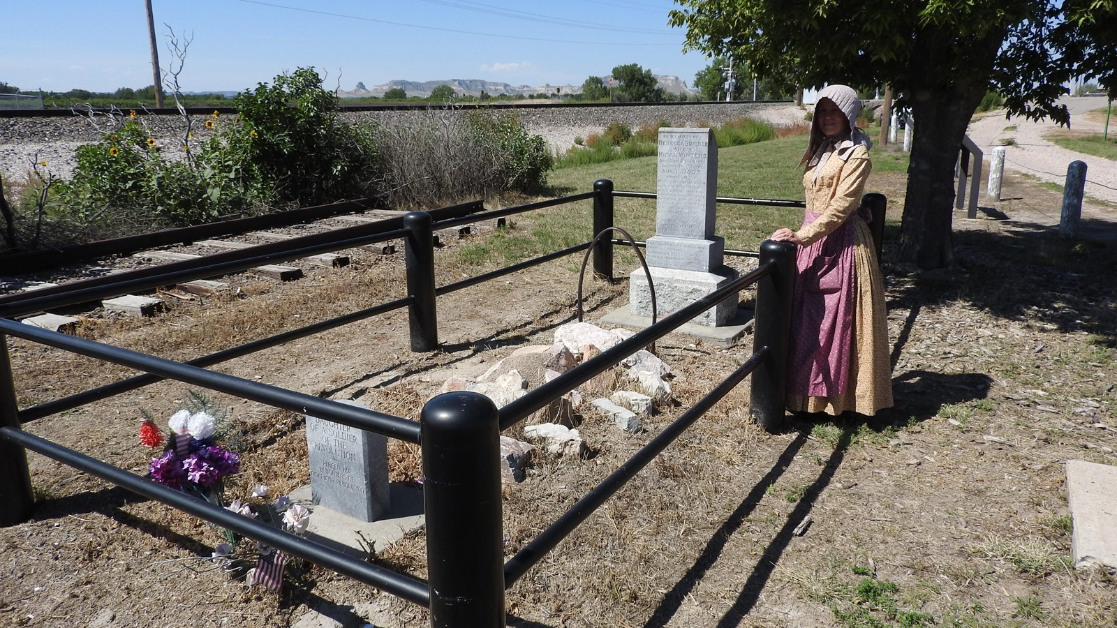
POLYGON ((392 483, 388 491, 391 498, 388 515, 367 523, 314 504, 311 499, 309 485, 292 492, 290 499, 311 508, 307 539, 352 556, 364 559, 367 556, 370 544, 375 553, 380 553, 392 543, 421 530, 427 524, 421 488, 392 483))

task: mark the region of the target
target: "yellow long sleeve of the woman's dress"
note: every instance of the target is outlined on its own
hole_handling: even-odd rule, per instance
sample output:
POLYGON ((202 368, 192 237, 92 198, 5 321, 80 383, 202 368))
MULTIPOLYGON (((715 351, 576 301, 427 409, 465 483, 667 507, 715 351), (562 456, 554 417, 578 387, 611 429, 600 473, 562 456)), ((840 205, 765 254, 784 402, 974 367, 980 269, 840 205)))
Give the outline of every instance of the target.
POLYGON ((796 231, 803 246, 829 235, 857 210, 871 170, 868 149, 856 146, 844 161, 831 155, 817 180, 806 173, 806 209, 819 217, 796 231))

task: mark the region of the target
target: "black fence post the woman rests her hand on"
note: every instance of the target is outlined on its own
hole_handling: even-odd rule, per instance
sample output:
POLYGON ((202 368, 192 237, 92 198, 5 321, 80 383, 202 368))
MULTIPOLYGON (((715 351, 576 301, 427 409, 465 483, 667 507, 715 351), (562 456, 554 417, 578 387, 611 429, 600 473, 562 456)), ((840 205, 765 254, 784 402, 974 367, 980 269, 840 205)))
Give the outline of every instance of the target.
POLYGON ((787 344, 791 333, 791 297, 795 286, 795 245, 764 240, 761 265, 774 261, 775 270, 756 283, 753 351, 768 350, 764 363, 753 371, 748 410, 768 431, 783 425, 787 394, 787 344))

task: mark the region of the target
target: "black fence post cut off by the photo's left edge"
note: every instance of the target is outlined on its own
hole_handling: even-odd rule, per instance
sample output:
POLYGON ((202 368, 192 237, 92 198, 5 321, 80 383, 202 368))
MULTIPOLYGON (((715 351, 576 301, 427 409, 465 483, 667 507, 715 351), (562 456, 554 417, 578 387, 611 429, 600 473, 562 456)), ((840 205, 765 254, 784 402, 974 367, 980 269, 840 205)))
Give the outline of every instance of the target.
MULTIPOLYGON (((0 427, 20 429, 16 381, 8 358, 8 337, 0 334, 0 427)), ((0 438, 0 526, 23 523, 35 510, 31 473, 27 468, 27 451, 19 445, 0 438)))

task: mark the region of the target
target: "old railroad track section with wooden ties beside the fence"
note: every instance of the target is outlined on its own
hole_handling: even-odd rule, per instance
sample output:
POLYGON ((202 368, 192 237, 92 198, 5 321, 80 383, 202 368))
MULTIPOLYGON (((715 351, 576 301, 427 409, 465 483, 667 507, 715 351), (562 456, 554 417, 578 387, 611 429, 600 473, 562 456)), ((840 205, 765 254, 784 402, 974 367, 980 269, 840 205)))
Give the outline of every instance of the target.
MULTIPOLYGON (((204 279, 169 283, 109 298, 67 303, 63 295, 96 291, 117 280, 189 268, 228 266, 230 259, 279 255, 290 247, 318 246, 359 235, 398 229, 403 211, 372 209, 371 200, 345 201, 265 217, 231 220, 143 236, 76 245, 60 250, 0 256, 0 315, 56 331, 75 330, 83 318, 156 316, 168 303, 240 295, 252 282, 293 282, 351 265, 367 267, 394 259, 402 264, 400 240, 312 253, 281 263, 259 264, 204 279), (57 297, 51 299, 51 297, 57 297), (39 308, 38 303, 59 303, 39 308)), ((479 201, 432 210, 461 216, 480 211, 479 201)), ((454 246, 491 225, 465 225, 435 234, 436 246, 454 246)), ((194 273, 197 275, 197 273, 194 273)), ((149 282, 150 283, 150 282, 149 282)))

